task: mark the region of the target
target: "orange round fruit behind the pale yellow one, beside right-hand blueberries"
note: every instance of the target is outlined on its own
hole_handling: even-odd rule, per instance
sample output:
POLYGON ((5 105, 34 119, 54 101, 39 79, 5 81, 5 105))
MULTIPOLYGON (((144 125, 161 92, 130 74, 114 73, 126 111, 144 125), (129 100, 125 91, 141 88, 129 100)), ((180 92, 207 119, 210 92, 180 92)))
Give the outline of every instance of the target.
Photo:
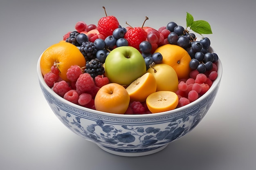
POLYGON ((168 64, 176 71, 178 79, 188 78, 191 68, 189 62, 191 57, 189 53, 180 46, 174 44, 165 44, 158 47, 155 53, 161 53, 162 63, 168 64))

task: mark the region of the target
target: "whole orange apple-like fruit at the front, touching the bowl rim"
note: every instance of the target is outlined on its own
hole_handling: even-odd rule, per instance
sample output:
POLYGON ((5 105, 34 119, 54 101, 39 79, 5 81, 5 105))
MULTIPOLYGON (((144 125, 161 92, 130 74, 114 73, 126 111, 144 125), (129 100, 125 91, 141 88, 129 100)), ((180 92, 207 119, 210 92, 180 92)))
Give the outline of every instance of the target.
POLYGON ((130 96, 126 89, 117 83, 102 86, 94 98, 96 110, 124 114, 129 106, 130 96))

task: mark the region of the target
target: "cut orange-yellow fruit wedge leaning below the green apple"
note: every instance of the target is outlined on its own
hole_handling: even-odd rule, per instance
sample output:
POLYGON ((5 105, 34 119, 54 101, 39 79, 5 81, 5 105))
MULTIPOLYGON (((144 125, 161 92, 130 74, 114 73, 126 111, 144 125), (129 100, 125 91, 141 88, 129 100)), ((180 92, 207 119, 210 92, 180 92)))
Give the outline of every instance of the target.
POLYGON ((148 95, 154 93, 157 89, 157 81, 153 74, 145 73, 134 82, 132 82, 126 91, 130 95, 131 101, 145 102, 148 95))

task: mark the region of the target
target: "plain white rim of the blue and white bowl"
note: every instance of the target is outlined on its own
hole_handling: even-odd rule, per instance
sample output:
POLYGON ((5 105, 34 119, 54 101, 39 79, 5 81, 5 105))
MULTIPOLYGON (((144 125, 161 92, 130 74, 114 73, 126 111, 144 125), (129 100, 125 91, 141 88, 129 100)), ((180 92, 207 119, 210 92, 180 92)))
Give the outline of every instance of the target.
MULTIPOLYGON (((211 51, 211 53, 216 53, 211 46, 209 47, 209 50, 211 51)), ((47 86, 47 84, 45 83, 45 81, 43 79, 43 74, 41 73, 41 69, 40 69, 40 59, 41 59, 43 53, 38 58, 38 62, 37 62, 38 80, 39 80, 39 83, 43 86, 43 88, 45 88, 53 97, 55 97, 59 101, 63 102, 64 104, 70 105, 74 108, 77 108, 79 110, 83 110, 83 111, 88 112, 88 113, 93 113, 93 114, 107 116, 107 117, 116 117, 116 118, 124 118, 124 119, 126 119, 126 118, 135 118, 135 119, 137 119, 137 118, 141 119, 142 118, 143 119, 143 118, 158 117, 158 116, 164 116, 164 115, 173 115, 173 114, 178 113, 182 110, 186 110, 187 108, 190 108, 191 106, 196 105, 199 102, 201 102, 202 100, 204 100, 209 95, 209 93, 211 93, 214 89, 217 88, 217 86, 220 84, 220 80, 222 78, 222 62, 220 61, 220 58, 218 58, 218 62, 217 62, 218 76, 213 81, 212 86, 209 88, 209 90, 204 95, 202 95, 200 98, 198 98, 194 102, 191 102, 191 103, 187 104, 186 106, 182 106, 180 108, 175 108, 173 110, 168 110, 168 111, 165 111, 165 112, 151 113, 151 114, 136 114, 136 115, 128 115, 127 114, 127 115, 125 115, 125 114, 107 113, 107 112, 102 112, 102 111, 98 111, 98 110, 93 110, 93 109, 90 109, 90 108, 85 108, 83 106, 79 106, 79 105, 74 104, 70 101, 67 101, 63 97, 57 95, 57 93, 55 93, 52 90, 52 88, 47 86)), ((77 114, 79 114, 79 113, 77 113, 77 114)))

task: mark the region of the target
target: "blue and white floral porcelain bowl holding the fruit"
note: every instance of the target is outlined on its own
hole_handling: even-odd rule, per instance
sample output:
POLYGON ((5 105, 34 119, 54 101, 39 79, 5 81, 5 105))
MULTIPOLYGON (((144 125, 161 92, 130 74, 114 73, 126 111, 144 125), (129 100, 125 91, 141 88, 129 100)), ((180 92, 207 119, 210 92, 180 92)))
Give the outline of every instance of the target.
POLYGON ((220 60, 217 65, 217 79, 209 91, 195 102, 171 111, 146 115, 105 113, 73 104, 45 84, 40 71, 40 58, 37 73, 45 99, 67 128, 107 152, 135 157, 164 149, 170 142, 186 135, 198 125, 213 104, 220 86, 220 60))

